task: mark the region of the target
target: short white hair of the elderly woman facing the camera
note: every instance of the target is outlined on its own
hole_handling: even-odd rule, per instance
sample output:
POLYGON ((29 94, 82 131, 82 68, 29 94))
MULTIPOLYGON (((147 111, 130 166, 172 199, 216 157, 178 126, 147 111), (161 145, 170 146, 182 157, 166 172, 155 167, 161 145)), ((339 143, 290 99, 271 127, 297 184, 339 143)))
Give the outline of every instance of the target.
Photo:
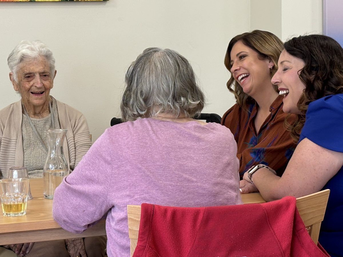
POLYGON ((55 73, 55 58, 52 55, 52 51, 43 42, 23 40, 17 45, 7 58, 7 64, 13 73, 13 78, 16 82, 17 71, 19 70, 19 64, 23 61, 33 60, 40 56, 45 57, 48 61, 51 75, 55 73))

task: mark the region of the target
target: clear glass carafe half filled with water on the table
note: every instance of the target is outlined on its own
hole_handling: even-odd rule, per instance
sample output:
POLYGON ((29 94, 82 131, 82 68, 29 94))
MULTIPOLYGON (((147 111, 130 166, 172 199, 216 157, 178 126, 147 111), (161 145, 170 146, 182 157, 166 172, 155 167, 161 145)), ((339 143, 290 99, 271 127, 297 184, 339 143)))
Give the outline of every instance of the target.
POLYGON ((45 130, 48 156, 44 165, 44 198, 53 199, 56 187, 69 175, 69 165, 63 153, 66 129, 45 130))

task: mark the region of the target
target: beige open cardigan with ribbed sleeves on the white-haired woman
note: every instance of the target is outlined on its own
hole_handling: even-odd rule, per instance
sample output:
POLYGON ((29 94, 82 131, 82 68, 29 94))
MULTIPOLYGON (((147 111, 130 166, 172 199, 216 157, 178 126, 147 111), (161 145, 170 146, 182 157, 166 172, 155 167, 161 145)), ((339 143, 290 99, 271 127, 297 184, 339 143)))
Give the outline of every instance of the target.
MULTIPOLYGON (((91 137, 84 115, 78 110, 57 101, 58 119, 61 129, 67 129, 63 152, 71 170, 80 162, 91 147, 91 137)), ((21 101, 0 110, 0 172, 8 177, 11 167, 23 166, 21 101)))

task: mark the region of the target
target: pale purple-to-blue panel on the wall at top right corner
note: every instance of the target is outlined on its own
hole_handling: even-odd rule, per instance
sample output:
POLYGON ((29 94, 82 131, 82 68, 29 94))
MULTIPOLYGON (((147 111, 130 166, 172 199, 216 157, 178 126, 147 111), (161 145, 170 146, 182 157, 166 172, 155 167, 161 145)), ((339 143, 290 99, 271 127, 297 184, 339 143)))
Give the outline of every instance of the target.
POLYGON ((334 38, 343 47, 342 10, 342 0, 323 0, 323 34, 334 38))

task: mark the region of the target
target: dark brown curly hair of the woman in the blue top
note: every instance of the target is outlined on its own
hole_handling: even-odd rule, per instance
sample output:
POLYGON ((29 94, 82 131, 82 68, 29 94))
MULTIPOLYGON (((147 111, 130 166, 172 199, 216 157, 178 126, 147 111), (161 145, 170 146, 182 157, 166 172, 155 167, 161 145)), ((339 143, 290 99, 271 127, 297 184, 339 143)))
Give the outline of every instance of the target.
POLYGON ((333 38, 324 35, 294 37, 285 42, 287 53, 305 62, 299 78, 305 89, 297 103, 301 114, 286 125, 297 142, 305 123, 310 102, 324 96, 343 93, 343 49, 333 38))

